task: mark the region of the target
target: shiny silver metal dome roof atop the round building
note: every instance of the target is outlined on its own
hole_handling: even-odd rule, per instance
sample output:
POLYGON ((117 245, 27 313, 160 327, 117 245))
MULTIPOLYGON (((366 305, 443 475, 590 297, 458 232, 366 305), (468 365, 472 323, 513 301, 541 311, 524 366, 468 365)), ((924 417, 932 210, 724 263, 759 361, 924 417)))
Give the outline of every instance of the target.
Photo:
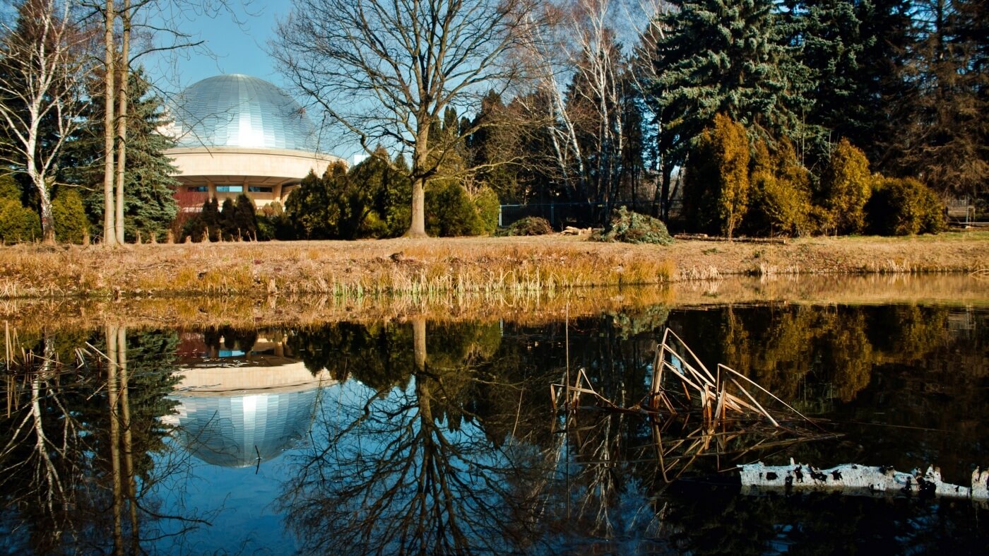
POLYGON ((305 110, 257 77, 231 73, 203 79, 178 95, 171 111, 177 146, 317 148, 305 110))

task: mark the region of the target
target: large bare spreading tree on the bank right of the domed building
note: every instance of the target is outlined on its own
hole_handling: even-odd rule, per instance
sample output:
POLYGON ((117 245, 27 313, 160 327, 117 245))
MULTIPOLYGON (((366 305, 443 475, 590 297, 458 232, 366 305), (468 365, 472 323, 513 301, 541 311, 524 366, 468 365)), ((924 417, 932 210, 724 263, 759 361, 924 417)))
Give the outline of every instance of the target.
POLYGON ((429 137, 448 107, 476 107, 523 75, 508 55, 542 21, 536 0, 295 0, 271 45, 282 71, 324 121, 368 153, 411 152, 411 223, 424 236, 424 186, 444 153, 472 130, 429 137))

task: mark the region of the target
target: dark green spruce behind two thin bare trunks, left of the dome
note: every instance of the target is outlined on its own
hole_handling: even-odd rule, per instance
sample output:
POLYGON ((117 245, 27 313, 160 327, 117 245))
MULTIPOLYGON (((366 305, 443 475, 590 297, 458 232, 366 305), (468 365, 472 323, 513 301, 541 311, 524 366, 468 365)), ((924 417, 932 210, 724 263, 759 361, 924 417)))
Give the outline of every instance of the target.
MULTIPOLYGON (((138 68, 129 75, 128 150, 124 198, 124 225, 126 237, 133 239, 154 234, 163 240, 178 206, 174 190, 178 181, 173 177, 176 168, 164 151, 175 145, 175 140, 159 133, 169 123, 164 112, 164 102, 151 92, 150 83, 138 68)), ((93 88, 100 87, 94 81, 93 88)), ((103 222, 103 103, 102 94, 94 94, 86 122, 66 149, 62 165, 64 177, 69 183, 84 186, 91 193, 84 199, 91 223, 103 222)))

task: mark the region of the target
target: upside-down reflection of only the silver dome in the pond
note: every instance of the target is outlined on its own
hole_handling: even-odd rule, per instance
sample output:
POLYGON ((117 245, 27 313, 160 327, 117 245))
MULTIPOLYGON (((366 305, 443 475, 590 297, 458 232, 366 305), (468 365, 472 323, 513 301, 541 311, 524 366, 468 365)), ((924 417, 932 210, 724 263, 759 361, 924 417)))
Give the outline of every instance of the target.
POLYGON ((183 443, 199 459, 224 467, 255 465, 294 447, 309 430, 318 390, 185 397, 175 419, 183 443))

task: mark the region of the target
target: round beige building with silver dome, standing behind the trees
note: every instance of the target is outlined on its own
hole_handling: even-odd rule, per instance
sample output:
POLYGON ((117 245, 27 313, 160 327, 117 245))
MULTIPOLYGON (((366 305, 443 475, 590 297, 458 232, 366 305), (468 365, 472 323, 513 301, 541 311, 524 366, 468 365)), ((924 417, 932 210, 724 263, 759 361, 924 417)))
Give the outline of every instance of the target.
POLYGON ((166 154, 183 208, 246 193, 257 206, 285 198, 309 172, 341 158, 319 149, 313 122, 285 91, 257 77, 203 79, 176 97, 166 154))

